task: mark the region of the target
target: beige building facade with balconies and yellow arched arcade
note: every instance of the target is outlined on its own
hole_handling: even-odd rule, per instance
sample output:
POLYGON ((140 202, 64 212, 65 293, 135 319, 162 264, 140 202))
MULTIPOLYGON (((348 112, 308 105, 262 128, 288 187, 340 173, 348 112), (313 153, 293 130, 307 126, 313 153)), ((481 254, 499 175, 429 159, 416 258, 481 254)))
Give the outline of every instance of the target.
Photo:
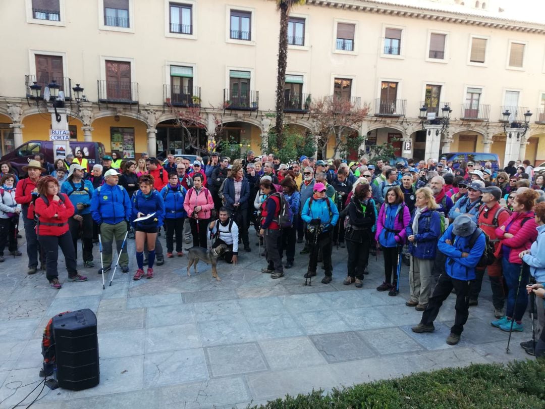
MULTIPOLYGON (((286 122, 314 134, 311 101, 337 95, 370 107, 354 130, 367 146, 393 139, 400 156, 417 159, 492 152, 502 165, 545 161, 545 26, 510 20, 494 0, 462 3, 307 0, 294 8, 286 122), (422 129, 422 104, 436 113, 450 107, 443 134, 422 129), (524 137, 505 135, 506 109, 510 122, 531 111, 524 137)), ((52 80, 72 137, 107 152, 188 153, 180 117, 195 122, 189 131, 202 146, 218 142, 221 123, 223 135, 259 151, 274 125, 278 19, 269 0, 1 2, 9 56, 0 76, 2 154, 47 139, 51 117, 29 87, 45 91, 52 80)))

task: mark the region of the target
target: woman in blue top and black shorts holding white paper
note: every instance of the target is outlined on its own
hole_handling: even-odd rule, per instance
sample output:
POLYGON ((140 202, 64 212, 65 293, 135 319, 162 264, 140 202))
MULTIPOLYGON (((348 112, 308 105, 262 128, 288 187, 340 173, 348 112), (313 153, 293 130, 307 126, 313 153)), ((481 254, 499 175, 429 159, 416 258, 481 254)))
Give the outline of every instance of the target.
POLYGON ((136 263, 138 270, 134 280, 144 276, 144 243, 148 242, 148 271, 146 278, 153 278, 155 261, 155 239, 165 217, 165 203, 153 187, 153 176, 143 175, 138 178, 138 188, 132 197, 132 227, 135 229, 136 263))

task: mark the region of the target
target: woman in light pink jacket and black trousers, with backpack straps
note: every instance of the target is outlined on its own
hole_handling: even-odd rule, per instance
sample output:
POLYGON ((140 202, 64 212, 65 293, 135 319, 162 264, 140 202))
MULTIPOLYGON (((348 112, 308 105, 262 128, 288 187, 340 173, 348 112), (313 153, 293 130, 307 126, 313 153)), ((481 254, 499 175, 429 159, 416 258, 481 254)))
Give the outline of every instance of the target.
POLYGON ((203 176, 195 173, 192 177, 193 187, 187 191, 184 200, 184 209, 187 212, 191 234, 193 235, 193 246, 207 248, 208 223, 210 213, 214 208, 214 201, 210 191, 203 186, 203 176))

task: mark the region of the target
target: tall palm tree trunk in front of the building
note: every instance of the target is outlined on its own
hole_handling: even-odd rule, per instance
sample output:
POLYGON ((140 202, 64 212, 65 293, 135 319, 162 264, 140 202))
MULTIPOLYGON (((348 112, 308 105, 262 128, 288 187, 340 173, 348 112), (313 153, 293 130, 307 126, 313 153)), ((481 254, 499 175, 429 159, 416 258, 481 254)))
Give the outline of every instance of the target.
MULTIPOLYGON (((289 11, 294 5, 305 4, 306 0, 276 0, 280 10, 280 36, 278 37, 278 73, 276 77, 276 124, 278 136, 284 131, 284 87, 286 86, 286 65, 288 64, 288 21, 289 11)), ((278 145, 282 138, 278 137, 278 145)))

